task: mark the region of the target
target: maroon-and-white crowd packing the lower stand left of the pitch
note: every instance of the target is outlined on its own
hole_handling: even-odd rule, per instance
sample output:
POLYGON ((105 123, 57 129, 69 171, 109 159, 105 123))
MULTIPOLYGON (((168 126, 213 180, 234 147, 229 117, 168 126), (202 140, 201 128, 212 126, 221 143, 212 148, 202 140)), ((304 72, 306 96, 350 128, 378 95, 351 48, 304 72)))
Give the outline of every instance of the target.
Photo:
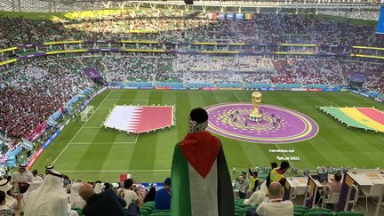
POLYGON ((0 84, 0 131, 23 138, 92 83, 68 70, 68 61, 34 60, 4 70, 0 84))

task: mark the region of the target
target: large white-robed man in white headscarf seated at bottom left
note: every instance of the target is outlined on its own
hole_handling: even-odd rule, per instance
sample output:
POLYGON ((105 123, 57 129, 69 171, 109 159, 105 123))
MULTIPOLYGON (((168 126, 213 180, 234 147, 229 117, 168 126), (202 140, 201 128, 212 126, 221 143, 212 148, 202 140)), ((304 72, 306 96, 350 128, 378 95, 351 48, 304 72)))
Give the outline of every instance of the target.
POLYGON ((62 183, 59 172, 47 172, 43 184, 29 195, 24 215, 68 216, 68 196, 62 183))

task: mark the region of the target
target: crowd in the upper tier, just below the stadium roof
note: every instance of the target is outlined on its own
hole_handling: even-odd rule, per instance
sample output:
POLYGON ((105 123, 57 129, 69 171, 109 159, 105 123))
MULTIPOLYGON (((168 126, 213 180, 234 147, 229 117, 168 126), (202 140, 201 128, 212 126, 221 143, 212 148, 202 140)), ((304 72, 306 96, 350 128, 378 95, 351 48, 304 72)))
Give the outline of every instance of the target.
POLYGON ((242 42, 381 45, 374 26, 310 15, 253 14, 252 20, 211 20, 179 10, 129 10, 98 16, 28 20, 0 17, 0 47, 71 39, 155 39, 168 42, 242 42), (10 30, 12 29, 12 30, 10 30), (141 31, 147 33, 136 34, 141 31))

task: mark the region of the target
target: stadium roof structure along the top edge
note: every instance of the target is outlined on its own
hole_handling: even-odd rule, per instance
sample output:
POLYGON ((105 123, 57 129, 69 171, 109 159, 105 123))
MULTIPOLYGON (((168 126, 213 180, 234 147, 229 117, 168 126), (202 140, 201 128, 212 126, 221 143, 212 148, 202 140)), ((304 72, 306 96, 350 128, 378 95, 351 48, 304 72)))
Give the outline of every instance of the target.
POLYGON ((8 12, 79 12, 100 9, 126 8, 182 8, 200 12, 314 12, 358 18, 368 12, 368 19, 376 20, 380 3, 384 0, 278 0, 278 1, 208 1, 198 0, 193 5, 184 1, 101 1, 101 0, 0 0, 0 11, 8 12), (371 13, 371 15, 370 15, 371 13), (370 17, 371 16, 371 17, 370 17))

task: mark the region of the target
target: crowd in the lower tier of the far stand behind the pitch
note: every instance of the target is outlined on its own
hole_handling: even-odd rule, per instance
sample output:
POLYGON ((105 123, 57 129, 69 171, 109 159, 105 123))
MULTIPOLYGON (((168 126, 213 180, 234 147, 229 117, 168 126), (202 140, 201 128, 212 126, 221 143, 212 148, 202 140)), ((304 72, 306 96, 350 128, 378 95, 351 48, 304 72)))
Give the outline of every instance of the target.
MULTIPOLYGON (((95 68, 112 83, 169 82, 180 84, 311 84, 348 85, 352 76, 365 77, 364 88, 382 92, 383 65, 379 62, 340 60, 336 58, 268 58, 265 56, 212 56, 212 55, 112 55, 84 54, 64 57, 44 65, 44 69, 55 71, 57 67, 71 71, 71 76, 83 73, 84 68, 95 68), (64 64, 67 62, 68 64, 64 64)), ((38 66, 37 66, 38 68, 38 66)), ((44 70, 29 65, 23 70, 32 71, 28 76, 19 73, 16 80, 38 79, 44 70), (39 71, 38 73, 34 71, 39 71), (40 74, 39 74, 40 73, 40 74), (30 77, 29 77, 30 76, 30 77)), ((12 70, 11 70, 12 71, 12 70)), ((20 82, 4 80, 19 86, 20 82)), ((25 85, 26 82, 23 84, 25 85)), ((28 83, 28 82, 27 82, 28 83)), ((29 82, 33 83, 33 82, 29 82)), ((80 80, 78 83, 81 83, 80 80)), ((4 87, 4 84, 2 84, 4 87)), ((237 85, 236 85, 237 86, 237 85)), ((28 86, 25 86, 28 87, 28 86)), ((72 87, 74 91, 84 86, 72 87)), ((69 88, 66 85, 66 88, 69 88)))

